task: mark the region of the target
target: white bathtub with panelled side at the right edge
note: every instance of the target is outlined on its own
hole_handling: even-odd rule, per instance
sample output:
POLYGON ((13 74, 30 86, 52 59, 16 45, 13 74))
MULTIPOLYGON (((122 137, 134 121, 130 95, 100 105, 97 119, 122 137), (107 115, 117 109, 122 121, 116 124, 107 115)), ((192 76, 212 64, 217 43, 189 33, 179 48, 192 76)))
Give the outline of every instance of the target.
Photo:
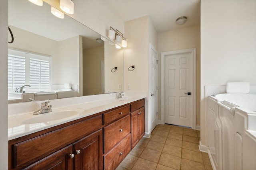
POLYGON ((228 93, 208 98, 208 153, 213 169, 256 167, 256 95, 228 93))

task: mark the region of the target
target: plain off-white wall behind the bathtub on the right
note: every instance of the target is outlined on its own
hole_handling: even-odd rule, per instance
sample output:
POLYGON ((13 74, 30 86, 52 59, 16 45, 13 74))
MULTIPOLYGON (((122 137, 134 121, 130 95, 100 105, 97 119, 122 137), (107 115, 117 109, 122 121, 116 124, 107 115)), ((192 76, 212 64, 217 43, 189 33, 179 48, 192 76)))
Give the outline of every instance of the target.
POLYGON ((206 143, 206 85, 256 85, 256 1, 201 0, 201 143, 206 143))

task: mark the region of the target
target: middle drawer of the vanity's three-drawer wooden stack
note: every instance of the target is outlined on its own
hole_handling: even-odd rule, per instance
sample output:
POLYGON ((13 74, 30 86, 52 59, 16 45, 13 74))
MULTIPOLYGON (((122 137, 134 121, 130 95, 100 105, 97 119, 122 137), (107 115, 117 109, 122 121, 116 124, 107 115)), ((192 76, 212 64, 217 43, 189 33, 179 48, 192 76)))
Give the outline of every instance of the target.
POLYGON ((130 114, 104 127, 104 153, 131 132, 130 114))

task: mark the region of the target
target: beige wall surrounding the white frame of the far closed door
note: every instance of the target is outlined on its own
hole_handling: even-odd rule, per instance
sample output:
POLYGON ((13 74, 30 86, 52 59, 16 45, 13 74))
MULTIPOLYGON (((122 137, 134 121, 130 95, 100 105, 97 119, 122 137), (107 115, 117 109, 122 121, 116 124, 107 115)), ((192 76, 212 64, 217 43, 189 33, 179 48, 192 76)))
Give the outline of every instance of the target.
MULTIPOLYGON (((158 60, 161 52, 196 48, 196 125, 200 126, 200 25, 158 33, 158 60)), ((158 64, 158 119, 161 120, 161 64, 158 64)))

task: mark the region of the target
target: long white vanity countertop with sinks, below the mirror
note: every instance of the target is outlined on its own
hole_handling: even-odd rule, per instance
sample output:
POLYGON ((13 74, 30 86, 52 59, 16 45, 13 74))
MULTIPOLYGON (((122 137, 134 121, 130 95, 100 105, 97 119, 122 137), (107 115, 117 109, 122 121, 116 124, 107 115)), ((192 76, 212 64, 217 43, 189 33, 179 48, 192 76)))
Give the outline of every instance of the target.
MULTIPOLYGON (((99 96, 100 95, 98 95, 98 97, 99 96)), ((101 111, 106 111, 114 107, 122 106, 124 104, 143 99, 146 96, 140 94, 136 96, 131 96, 131 98, 129 98, 128 100, 119 100, 115 98, 115 96, 113 97, 113 95, 110 97, 111 98, 100 96, 99 99, 93 96, 94 100, 91 101, 88 101, 89 99, 86 100, 86 96, 78 98, 51 100, 51 103, 49 103, 49 105, 52 105, 52 112, 43 113, 40 115, 33 115, 33 111, 36 111, 40 108, 40 103, 42 101, 12 104, 9 106, 8 113, 8 140, 22 137, 57 125, 61 125, 63 123, 74 121, 76 119, 87 117, 89 115, 93 115, 101 111), (66 104, 67 102, 70 103, 70 105, 66 104), (21 108, 19 109, 19 107, 21 108), (22 110, 23 112, 18 110, 22 110), (47 114, 54 114, 54 112, 57 113, 57 111, 62 110, 75 110, 79 113, 70 117, 65 117, 63 119, 41 122, 44 118, 46 118, 46 116, 49 117, 49 115, 47 114), (34 117, 37 117, 38 119, 34 117), (32 122, 27 121, 31 119, 33 119, 32 122)))

